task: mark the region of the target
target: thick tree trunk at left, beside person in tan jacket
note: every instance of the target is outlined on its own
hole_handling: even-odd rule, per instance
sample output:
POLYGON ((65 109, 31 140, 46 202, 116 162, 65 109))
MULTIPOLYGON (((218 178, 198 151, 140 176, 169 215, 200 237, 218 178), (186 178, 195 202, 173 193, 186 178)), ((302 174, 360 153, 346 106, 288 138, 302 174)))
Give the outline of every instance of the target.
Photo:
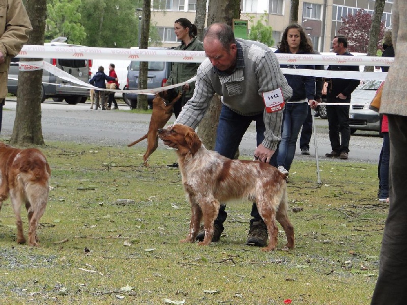
MULTIPOLYGON (((24 1, 33 32, 27 45, 44 45, 47 1, 24 1)), ((26 62, 38 58, 21 58, 26 62)), ((16 118, 10 138, 12 145, 44 145, 41 128, 42 70, 20 71, 17 88, 16 118)))

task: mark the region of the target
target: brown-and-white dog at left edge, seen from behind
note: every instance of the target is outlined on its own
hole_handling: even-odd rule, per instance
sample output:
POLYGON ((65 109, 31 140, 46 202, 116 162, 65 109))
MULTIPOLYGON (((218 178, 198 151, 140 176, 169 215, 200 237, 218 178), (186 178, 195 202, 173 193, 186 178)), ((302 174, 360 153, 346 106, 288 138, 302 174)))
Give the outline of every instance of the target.
POLYGON ((51 170, 36 148, 19 149, 0 142, 0 209, 10 195, 17 219, 17 242, 24 243, 20 217, 24 204, 28 216, 28 244, 38 245, 37 227, 48 201, 51 170))

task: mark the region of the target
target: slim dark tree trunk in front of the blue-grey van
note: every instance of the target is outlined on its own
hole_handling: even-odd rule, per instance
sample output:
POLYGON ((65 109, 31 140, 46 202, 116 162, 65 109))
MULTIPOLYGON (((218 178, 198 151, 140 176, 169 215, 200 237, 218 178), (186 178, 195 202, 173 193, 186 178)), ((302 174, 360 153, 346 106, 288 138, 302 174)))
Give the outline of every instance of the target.
MULTIPOLYGON (((150 33, 150 19, 151 19, 151 1, 143 0, 143 13, 141 17, 141 36, 140 36, 140 49, 147 49, 149 47, 149 33, 150 33)), ((149 73, 149 63, 141 62, 140 70, 138 72, 138 88, 147 89, 147 75, 149 73)), ((137 109, 147 109, 147 95, 137 95, 137 109)))

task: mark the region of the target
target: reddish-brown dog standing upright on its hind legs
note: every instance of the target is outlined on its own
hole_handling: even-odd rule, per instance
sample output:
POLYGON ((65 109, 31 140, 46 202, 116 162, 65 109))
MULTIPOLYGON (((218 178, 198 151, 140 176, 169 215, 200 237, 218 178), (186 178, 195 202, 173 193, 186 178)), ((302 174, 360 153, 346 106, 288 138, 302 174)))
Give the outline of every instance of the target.
POLYGON ((147 151, 143 156, 144 165, 149 166, 147 160, 158 147, 157 131, 159 128, 165 126, 172 115, 174 104, 181 98, 181 96, 182 94, 178 94, 176 89, 168 89, 158 93, 153 100, 153 113, 150 118, 149 131, 137 141, 127 145, 130 147, 147 139, 147 151))

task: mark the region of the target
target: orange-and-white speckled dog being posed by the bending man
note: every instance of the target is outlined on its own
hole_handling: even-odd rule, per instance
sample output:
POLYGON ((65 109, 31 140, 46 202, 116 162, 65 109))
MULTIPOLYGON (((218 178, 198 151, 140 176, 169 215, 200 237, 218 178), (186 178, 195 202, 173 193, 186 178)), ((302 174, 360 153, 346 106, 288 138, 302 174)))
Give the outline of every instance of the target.
POLYGON ((259 161, 225 158, 206 149, 194 130, 181 124, 159 129, 158 136, 177 147, 182 183, 191 204, 189 234, 181 242, 195 241, 203 217, 205 238, 198 245, 209 245, 219 202, 246 198, 256 202, 267 225, 269 245, 262 250, 272 251, 277 245, 276 220, 287 236, 286 247, 294 248, 294 228, 287 216, 285 175, 277 168, 259 161))

